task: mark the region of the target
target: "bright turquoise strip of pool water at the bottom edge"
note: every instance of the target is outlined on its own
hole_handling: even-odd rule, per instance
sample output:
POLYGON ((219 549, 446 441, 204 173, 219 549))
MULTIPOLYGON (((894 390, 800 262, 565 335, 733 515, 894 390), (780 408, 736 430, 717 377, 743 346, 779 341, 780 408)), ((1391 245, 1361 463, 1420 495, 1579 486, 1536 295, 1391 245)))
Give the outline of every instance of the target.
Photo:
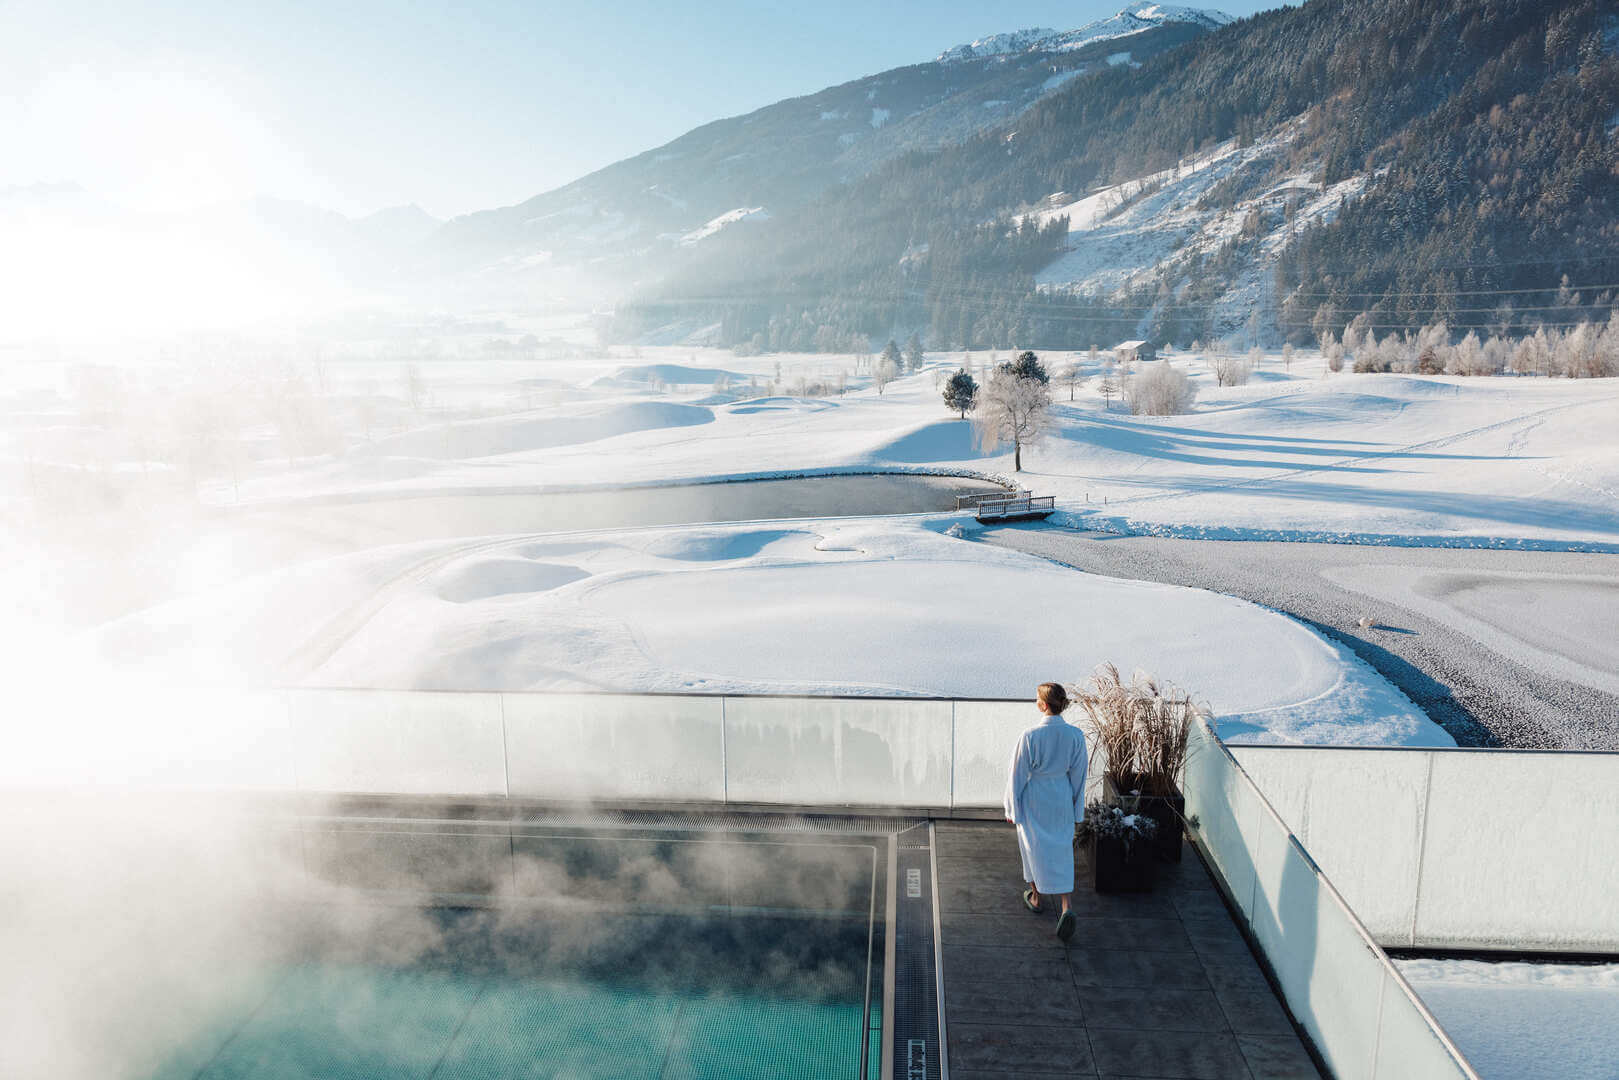
POLYGON ((860 1030, 848 999, 308 965, 160 1075, 819 1080, 858 1075, 860 1030))

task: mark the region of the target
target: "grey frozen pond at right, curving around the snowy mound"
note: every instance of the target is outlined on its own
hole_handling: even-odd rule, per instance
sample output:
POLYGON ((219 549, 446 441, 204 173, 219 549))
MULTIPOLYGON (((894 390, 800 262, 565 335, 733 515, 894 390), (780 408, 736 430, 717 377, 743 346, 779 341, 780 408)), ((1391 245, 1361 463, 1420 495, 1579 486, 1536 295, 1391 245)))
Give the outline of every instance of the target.
POLYGON ((1464 746, 1619 750, 1619 555, 1185 541, 1043 523, 981 538, 1287 612, 1352 648, 1464 746))

